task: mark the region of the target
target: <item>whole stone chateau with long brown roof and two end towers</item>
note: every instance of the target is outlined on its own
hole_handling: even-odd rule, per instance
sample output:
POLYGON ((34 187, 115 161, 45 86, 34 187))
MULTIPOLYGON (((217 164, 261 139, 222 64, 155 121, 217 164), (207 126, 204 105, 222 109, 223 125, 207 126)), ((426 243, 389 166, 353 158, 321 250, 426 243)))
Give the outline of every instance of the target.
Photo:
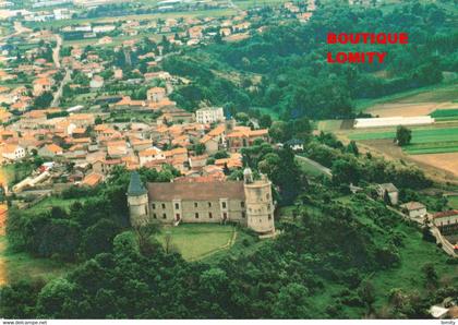
POLYGON ((132 172, 128 190, 132 226, 162 222, 239 222, 258 233, 274 227, 272 183, 262 176, 254 180, 251 169, 243 181, 142 183, 132 172))

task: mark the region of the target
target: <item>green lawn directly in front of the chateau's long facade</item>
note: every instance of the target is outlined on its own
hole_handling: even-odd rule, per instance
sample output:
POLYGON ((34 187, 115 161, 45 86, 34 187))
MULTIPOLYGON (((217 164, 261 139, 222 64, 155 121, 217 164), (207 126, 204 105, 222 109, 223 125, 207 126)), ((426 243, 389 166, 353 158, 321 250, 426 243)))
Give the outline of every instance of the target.
POLYGON ((178 227, 165 227, 157 234, 157 239, 165 245, 166 238, 170 234, 172 246, 183 258, 195 261, 230 248, 234 232, 236 228, 232 226, 183 224, 178 227))

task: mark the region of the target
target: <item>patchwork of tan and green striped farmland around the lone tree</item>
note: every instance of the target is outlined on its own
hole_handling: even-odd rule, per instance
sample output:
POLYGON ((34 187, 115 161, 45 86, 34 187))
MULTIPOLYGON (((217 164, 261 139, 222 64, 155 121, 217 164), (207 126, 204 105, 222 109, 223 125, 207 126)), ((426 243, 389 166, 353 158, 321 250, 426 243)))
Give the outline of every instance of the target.
POLYGON ((436 123, 409 127, 411 144, 397 146, 396 128, 349 130, 343 123, 323 122, 320 130, 335 132, 345 143, 358 142, 362 152, 378 153, 388 159, 413 162, 437 181, 458 180, 458 84, 425 87, 385 98, 359 103, 360 111, 379 117, 412 117, 431 115, 436 123))

